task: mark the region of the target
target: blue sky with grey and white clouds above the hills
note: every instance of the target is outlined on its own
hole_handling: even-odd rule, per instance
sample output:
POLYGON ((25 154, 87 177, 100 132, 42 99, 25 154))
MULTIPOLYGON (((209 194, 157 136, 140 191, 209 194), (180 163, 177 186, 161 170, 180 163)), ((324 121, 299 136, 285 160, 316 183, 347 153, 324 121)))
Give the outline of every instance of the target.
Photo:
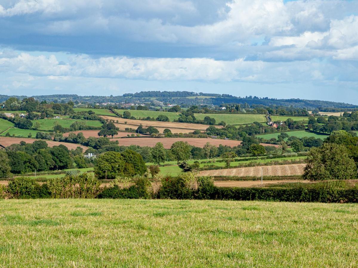
POLYGON ((0 0, 0 94, 358 104, 358 0, 0 0))

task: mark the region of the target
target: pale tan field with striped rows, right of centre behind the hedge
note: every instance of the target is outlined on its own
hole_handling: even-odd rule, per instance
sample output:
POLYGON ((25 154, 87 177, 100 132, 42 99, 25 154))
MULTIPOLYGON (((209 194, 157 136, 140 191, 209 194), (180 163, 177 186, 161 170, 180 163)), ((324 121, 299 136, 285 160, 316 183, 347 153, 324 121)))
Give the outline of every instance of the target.
POLYGON ((200 176, 236 176, 236 177, 261 177, 263 176, 291 176, 302 175, 306 164, 272 165, 249 168, 230 168, 200 171, 200 176))

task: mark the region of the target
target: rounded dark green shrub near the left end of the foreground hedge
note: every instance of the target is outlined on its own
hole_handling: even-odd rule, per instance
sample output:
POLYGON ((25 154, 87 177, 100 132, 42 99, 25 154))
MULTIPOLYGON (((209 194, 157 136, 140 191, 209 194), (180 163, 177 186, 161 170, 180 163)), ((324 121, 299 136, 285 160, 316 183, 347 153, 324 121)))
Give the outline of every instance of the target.
POLYGON ((16 177, 9 180, 8 193, 13 198, 32 198, 35 192, 36 182, 31 177, 16 177))

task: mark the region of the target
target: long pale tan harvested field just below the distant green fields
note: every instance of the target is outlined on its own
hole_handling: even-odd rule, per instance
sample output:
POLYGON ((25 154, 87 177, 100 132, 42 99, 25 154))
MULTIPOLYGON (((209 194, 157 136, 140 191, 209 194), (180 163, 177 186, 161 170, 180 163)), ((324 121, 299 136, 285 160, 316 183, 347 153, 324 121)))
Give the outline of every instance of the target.
MULTIPOLYGON (((206 130, 209 125, 203 125, 203 124, 190 124, 190 123, 177 123, 177 122, 159 122, 159 121, 146 121, 146 120, 131 120, 131 119, 124 119, 124 118, 117 118, 113 116, 101 116, 104 119, 108 120, 114 120, 115 125, 119 127, 124 128, 134 128, 133 126, 136 126, 137 128, 140 124, 143 126, 143 128, 147 128, 148 126, 154 126, 155 128, 161 128, 161 129, 174 129, 175 132, 171 131, 172 133, 189 133, 193 132, 194 130, 206 130), (117 123, 118 121, 118 123, 117 123), (127 124, 125 123, 127 122, 127 124), (180 130, 180 132, 178 132, 180 130), (183 132, 184 130, 191 130, 188 132, 183 132)), ((216 128, 222 128, 222 126, 215 126, 216 128)), ((160 130, 159 130, 160 131, 160 130)), ((161 131, 163 132, 163 131, 161 131)))

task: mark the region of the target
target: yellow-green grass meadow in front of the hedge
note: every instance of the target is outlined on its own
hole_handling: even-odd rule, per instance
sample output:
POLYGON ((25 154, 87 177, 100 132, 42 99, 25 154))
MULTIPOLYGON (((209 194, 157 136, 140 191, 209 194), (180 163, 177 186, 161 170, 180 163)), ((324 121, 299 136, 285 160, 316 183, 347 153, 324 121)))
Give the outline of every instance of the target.
POLYGON ((1 267, 357 267, 356 204, 0 200, 1 267))

